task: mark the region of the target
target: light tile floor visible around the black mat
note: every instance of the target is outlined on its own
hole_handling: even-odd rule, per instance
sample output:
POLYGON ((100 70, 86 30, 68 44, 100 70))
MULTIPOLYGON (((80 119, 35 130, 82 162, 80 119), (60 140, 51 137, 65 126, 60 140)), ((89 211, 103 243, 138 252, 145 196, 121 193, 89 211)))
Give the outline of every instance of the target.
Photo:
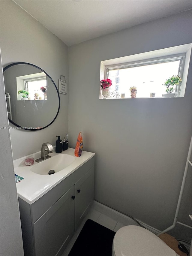
MULTIPOLYGON (((82 221, 82 224, 80 225, 80 227, 76 230, 75 234, 73 235, 72 239, 70 240, 69 244, 67 245, 67 248, 65 249, 64 253, 62 254, 62 256, 67 256, 71 250, 71 248, 73 247, 73 244, 75 243, 79 233, 82 230, 82 227, 84 226, 86 220, 91 219, 101 225, 103 225, 104 227, 107 227, 115 232, 117 232, 117 230, 119 230, 119 228, 124 227, 125 225, 138 225, 136 222, 132 222, 132 221, 123 221, 123 223, 119 222, 116 218, 113 219, 110 216, 111 214, 107 214, 107 213, 101 213, 98 210, 94 209, 94 206, 91 207, 90 211, 88 212, 88 214, 85 216, 85 218, 82 221)), ((115 217, 115 215, 113 216, 115 217)))

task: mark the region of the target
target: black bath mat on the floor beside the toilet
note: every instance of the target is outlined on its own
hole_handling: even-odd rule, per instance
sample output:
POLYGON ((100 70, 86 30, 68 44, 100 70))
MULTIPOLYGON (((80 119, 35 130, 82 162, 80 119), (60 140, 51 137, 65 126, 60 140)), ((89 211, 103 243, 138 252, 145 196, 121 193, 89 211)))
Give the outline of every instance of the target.
POLYGON ((87 220, 68 256, 111 256, 115 232, 87 220))

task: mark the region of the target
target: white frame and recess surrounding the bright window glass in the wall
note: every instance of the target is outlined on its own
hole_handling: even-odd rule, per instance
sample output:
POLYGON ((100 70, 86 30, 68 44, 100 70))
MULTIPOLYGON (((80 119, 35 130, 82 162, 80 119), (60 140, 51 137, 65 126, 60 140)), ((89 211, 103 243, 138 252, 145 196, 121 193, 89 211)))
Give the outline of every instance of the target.
MULTIPOLYGON (((176 88, 175 97, 184 97, 187 74, 189 69, 190 55, 192 44, 184 44, 180 46, 155 50, 147 53, 139 53, 131 56, 120 57, 116 59, 101 61, 100 81, 108 78, 107 71, 110 69, 119 69, 125 67, 134 67, 141 65, 149 65, 154 62, 166 62, 171 58, 182 57, 182 65, 179 68, 179 75, 182 77, 182 83, 176 88)), ((102 96, 100 95, 100 99, 102 96)))

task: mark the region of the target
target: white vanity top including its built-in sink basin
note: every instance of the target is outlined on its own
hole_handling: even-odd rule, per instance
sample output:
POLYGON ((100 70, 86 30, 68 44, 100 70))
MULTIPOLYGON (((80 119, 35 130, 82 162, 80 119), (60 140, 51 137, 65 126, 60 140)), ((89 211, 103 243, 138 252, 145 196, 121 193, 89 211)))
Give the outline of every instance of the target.
POLYGON ((29 166, 25 165, 25 159, 29 157, 38 159, 41 151, 14 160, 15 173, 24 178, 16 183, 18 196, 29 204, 34 203, 95 155, 83 151, 81 157, 76 157, 74 151, 75 149, 72 148, 60 154, 54 151, 49 154, 51 158, 40 163, 34 162, 29 166), (49 170, 55 170, 55 173, 49 175, 49 170))

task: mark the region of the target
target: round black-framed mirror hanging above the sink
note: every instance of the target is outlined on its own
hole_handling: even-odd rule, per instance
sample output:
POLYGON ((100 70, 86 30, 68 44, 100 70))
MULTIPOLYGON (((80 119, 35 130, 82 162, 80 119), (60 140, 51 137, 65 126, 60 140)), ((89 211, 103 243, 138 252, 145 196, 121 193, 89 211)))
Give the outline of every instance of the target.
POLYGON ((9 122, 15 128, 42 130, 58 116, 60 97, 57 86, 42 68, 15 62, 3 69, 9 122))

